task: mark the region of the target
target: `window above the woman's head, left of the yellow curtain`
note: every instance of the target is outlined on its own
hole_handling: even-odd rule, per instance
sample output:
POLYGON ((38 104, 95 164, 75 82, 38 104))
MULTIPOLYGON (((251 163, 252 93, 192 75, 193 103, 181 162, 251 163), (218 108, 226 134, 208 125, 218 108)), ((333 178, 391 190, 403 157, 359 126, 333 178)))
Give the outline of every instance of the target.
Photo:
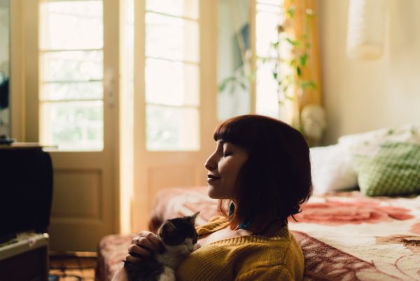
POLYGON ((273 71, 284 44, 277 50, 272 44, 282 41, 277 28, 285 18, 283 1, 218 1, 219 120, 249 113, 281 117, 283 95, 273 71))

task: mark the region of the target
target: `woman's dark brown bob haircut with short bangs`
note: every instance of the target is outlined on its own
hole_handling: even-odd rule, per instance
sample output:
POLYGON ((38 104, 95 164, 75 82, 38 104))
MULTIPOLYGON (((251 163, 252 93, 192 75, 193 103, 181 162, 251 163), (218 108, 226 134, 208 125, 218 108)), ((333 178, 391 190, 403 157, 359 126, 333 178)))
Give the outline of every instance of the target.
MULTIPOLYGON (((300 205, 311 196, 312 182, 309 146, 298 130, 274 118, 243 115, 219 124, 214 140, 248 152, 236 182, 231 228, 251 219, 255 233, 267 224, 261 218, 287 224, 288 217, 301 212, 300 205)), ((226 207, 226 200, 220 200, 219 209, 228 215, 226 207)))

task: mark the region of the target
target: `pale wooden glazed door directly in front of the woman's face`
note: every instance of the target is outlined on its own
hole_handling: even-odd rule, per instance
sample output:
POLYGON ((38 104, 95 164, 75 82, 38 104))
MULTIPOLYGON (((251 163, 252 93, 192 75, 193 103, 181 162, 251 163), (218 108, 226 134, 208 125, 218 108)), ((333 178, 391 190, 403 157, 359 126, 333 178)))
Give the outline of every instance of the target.
MULTIPOLYGON (((155 4, 158 2, 155 1, 155 4)), ((212 132, 217 123, 217 1, 190 0, 184 1, 184 5, 186 6, 182 10, 183 12, 179 12, 176 8, 146 6, 144 1, 136 1, 134 8, 136 18, 140 19, 134 21, 134 199, 132 224, 134 231, 147 228, 150 210, 159 191, 176 186, 203 186, 207 181, 204 161, 214 149, 212 132), (197 13, 191 12, 195 8, 197 8, 195 11, 197 13), (155 19, 162 20, 162 22, 155 21, 155 19), (181 43, 181 45, 184 44, 182 45, 183 50, 186 50, 184 55, 174 55, 175 52, 165 53, 165 50, 162 52, 160 50, 148 50, 148 48, 153 48, 153 45, 148 42, 151 39, 148 32, 153 34, 159 34, 160 32, 149 27, 149 25, 156 22, 165 25, 165 22, 174 19, 176 22, 181 22, 179 30, 174 29, 174 33, 181 33, 180 29, 182 27, 186 29, 183 33, 183 39, 188 42, 181 43), (191 30, 198 30, 197 37, 188 34, 191 30), (197 48, 197 50, 194 48, 197 48), (197 53, 197 56, 191 55, 195 53, 197 53), (183 74, 185 76, 177 80, 170 74, 166 75, 165 67, 162 67, 161 79, 155 83, 153 77, 148 74, 148 71, 153 72, 153 69, 148 70, 149 65, 153 64, 148 63, 153 59, 165 61, 164 64, 168 62, 169 67, 167 69, 171 67, 171 63, 182 65, 183 69, 196 67, 198 69, 197 75, 190 73, 190 76, 187 76, 186 72, 188 71, 184 70, 183 74), (186 76, 187 79, 185 79, 186 76), (182 83, 183 91, 177 89, 178 82, 182 78, 184 79, 182 83), (159 83, 169 83, 169 86, 165 88, 165 85, 155 85, 159 83), (191 90, 194 85, 197 86, 197 90, 191 90), (188 94, 188 90, 190 90, 190 94, 188 94), (188 102, 188 99, 185 98, 184 102, 179 102, 179 104, 172 103, 170 95, 159 100, 156 95, 161 95, 165 91, 173 95, 177 95, 177 91, 183 93, 179 95, 185 96, 197 94, 197 98, 193 98, 193 102, 188 102), (150 145, 148 143, 150 135, 148 134, 152 133, 152 130, 155 129, 154 126, 161 126, 160 123, 154 125, 154 123, 148 121, 148 118, 150 118, 148 110, 151 107, 160 107, 162 111, 168 109, 168 111, 190 112, 190 116, 181 121, 181 124, 186 127, 184 132, 189 130, 183 137, 187 138, 186 142, 193 142, 193 139, 197 142, 190 144, 183 142, 180 146, 172 146, 173 143, 169 142, 169 144, 163 144, 160 148, 150 145)), ((158 35, 152 39, 160 40, 158 35)), ((170 48, 171 44, 171 41, 166 41, 160 46, 169 46, 170 48)), ((173 49, 176 49, 176 47, 173 49)), ((157 48, 160 47, 157 46, 157 48)), ((176 76, 176 73, 174 75, 176 76)), ((164 119, 164 122, 177 122, 174 119, 167 118, 164 119)), ((160 128, 156 130, 160 130, 160 128)), ((162 129, 163 135, 166 133, 165 130, 165 128, 162 129)), ((167 137, 170 138, 172 135, 168 132, 167 137)), ((161 139, 158 139, 157 142, 160 141, 161 139)), ((176 141, 174 140, 174 142, 176 141)), ((153 142, 153 144, 156 144, 156 142, 153 142)))

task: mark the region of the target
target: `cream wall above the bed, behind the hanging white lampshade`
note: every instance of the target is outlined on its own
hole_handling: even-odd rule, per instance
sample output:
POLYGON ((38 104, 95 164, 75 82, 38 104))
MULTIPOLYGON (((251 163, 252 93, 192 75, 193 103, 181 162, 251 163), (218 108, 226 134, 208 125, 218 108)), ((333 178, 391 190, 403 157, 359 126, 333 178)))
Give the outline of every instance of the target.
POLYGON ((420 1, 389 0, 379 60, 346 56, 348 0, 318 0, 325 142, 340 135, 420 124, 420 1))

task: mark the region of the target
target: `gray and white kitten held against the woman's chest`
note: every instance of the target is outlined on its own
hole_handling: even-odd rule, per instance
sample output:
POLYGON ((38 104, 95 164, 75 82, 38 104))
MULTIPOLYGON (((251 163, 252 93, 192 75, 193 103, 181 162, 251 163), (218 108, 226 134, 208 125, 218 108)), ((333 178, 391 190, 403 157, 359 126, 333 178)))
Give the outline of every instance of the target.
MULTIPOLYGON (((124 261, 129 281, 175 281, 174 270, 188 254, 200 247, 197 243, 195 218, 200 212, 190 217, 168 219, 158 230, 162 241, 162 252, 142 258, 139 263, 124 261)), ((134 254, 132 254, 135 256, 134 254)))

